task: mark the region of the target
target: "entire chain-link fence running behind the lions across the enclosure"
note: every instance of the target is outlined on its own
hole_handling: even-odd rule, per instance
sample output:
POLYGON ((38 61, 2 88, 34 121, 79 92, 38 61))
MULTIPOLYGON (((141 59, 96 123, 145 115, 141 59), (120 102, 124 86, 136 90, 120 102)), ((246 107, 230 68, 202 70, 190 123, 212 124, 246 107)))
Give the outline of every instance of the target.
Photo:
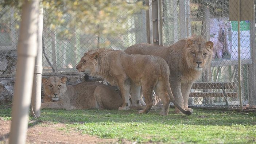
MULTIPOLYGON (((77 75, 75 66, 84 52, 105 44, 121 50, 136 43, 171 45, 197 34, 214 43, 214 58, 209 70, 204 71, 202 78, 192 86, 189 105, 240 109, 242 104, 243 109, 255 109, 255 1, 243 1, 240 5, 243 17, 239 31, 240 51, 237 20, 229 20, 230 13, 238 11, 237 0, 145 0, 144 4, 149 10, 133 15, 125 34, 117 32, 115 36, 103 38, 74 27, 68 29, 71 38, 65 38, 59 30, 44 24, 43 75, 77 75), (238 65, 239 52, 241 67, 238 65)), ((0 10, 0 77, 15 77, 18 23, 13 18, 13 11, 8 7, 0 10)), ((43 15, 45 19, 47 12, 43 15)), ((238 15, 232 16, 238 18, 238 15)), ((66 21, 69 19, 67 16, 66 21)), ((59 29, 67 28, 63 25, 59 29)))

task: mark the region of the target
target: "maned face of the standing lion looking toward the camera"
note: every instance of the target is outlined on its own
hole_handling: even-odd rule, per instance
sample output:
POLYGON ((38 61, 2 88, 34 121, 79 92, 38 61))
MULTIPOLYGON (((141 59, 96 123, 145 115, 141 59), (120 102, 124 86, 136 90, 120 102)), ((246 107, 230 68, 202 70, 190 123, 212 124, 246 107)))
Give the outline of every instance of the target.
POLYGON ((213 55, 213 42, 201 42, 200 40, 187 40, 186 63, 190 69, 203 70, 210 64, 213 55))

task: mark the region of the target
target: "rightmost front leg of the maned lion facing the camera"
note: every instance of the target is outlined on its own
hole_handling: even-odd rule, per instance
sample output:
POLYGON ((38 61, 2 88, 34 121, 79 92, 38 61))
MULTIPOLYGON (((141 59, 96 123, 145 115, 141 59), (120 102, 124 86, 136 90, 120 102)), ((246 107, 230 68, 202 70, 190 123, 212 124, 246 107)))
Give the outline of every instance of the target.
POLYGON ((193 84, 193 82, 181 84, 181 93, 182 93, 183 100, 184 100, 184 108, 186 110, 190 110, 191 112, 193 112, 193 109, 190 109, 187 103, 189 101, 189 93, 190 93, 192 84, 193 84))

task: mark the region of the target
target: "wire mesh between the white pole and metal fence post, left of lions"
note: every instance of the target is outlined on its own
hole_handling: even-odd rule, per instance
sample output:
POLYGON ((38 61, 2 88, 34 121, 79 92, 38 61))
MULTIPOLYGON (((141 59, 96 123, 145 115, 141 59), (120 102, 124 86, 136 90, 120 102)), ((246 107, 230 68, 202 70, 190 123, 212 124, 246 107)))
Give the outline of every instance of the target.
MULTIPOLYGON (((47 12, 44 12, 47 17, 47 12)), ((120 16, 121 17, 121 16, 120 16)), ((66 22, 72 17, 66 16, 66 22)), ((112 22, 118 23, 118 22, 112 22)), ((60 35, 57 30, 43 28, 43 74, 44 75, 75 75, 75 69, 80 58, 89 49, 112 48, 124 50, 135 43, 147 43, 146 12, 135 13, 128 20, 128 29, 125 33, 116 32, 115 35, 101 36, 86 34, 79 27, 67 29, 61 26, 62 31, 67 29, 70 38, 60 35)), ((113 26, 115 26, 113 24, 113 26)), ((97 26, 95 26, 97 29, 97 26)))

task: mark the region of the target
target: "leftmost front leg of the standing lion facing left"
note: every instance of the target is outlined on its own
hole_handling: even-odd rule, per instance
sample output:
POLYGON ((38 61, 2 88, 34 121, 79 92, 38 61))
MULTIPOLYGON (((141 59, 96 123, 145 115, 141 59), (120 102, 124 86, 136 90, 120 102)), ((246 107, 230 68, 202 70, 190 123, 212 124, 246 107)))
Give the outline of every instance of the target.
POLYGON ((130 93, 130 81, 129 79, 119 80, 118 85, 121 90, 123 105, 118 110, 128 110, 130 108, 129 93, 130 93))

